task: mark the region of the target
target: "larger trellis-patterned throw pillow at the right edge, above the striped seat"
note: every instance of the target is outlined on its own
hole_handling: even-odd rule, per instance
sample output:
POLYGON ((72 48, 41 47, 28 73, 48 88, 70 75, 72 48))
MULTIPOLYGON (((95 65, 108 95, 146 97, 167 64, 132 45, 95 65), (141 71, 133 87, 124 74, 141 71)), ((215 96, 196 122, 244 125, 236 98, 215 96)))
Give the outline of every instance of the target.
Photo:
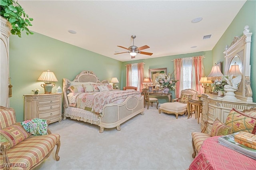
POLYGON ((233 133, 246 131, 252 133, 256 125, 256 117, 246 115, 245 113, 236 110, 235 108, 231 109, 228 117, 226 119, 225 125, 232 127, 233 133))

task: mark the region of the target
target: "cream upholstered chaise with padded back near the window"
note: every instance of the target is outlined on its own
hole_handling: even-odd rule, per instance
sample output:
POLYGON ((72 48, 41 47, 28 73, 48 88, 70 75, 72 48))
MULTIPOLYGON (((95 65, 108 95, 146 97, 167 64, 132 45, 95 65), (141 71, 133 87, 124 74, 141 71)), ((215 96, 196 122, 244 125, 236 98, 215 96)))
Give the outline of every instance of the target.
MULTIPOLYGON (((164 112, 168 114, 175 114, 176 119, 178 115, 186 115, 187 111, 187 102, 191 99, 196 99, 198 92, 193 89, 184 89, 180 93, 180 98, 172 100, 172 103, 162 103, 159 107, 159 113, 164 112)), ((193 111, 193 110, 192 110, 193 111)))

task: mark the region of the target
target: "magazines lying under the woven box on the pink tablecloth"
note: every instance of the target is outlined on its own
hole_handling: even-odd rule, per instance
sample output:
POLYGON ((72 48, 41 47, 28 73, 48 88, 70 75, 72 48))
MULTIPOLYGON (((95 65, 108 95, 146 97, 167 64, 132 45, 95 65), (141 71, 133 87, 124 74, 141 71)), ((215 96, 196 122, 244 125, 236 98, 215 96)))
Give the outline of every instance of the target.
POLYGON ((236 134, 239 134, 239 132, 236 132, 233 134, 228 134, 226 136, 221 136, 218 138, 218 142, 223 146, 226 146, 232 150, 235 150, 241 154, 244 154, 244 155, 256 160, 256 149, 249 148, 243 144, 237 143, 234 140, 234 136, 236 134))

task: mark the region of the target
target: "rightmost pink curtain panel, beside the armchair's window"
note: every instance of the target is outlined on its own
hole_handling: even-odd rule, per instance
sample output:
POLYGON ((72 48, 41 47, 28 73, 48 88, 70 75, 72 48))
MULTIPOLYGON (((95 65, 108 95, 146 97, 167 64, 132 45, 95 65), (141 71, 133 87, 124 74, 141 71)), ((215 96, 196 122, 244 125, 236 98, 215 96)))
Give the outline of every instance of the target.
POLYGON ((191 89, 195 89, 199 93, 203 93, 202 86, 199 84, 202 76, 204 76, 203 56, 192 57, 191 89))

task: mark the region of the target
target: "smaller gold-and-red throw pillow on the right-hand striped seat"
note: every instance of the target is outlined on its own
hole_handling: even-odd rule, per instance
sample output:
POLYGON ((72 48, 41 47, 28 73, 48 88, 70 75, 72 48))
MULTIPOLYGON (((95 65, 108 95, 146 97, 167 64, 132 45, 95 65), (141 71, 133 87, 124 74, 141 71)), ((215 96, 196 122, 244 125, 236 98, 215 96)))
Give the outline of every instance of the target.
POLYGON ((224 125, 218 118, 215 119, 212 124, 211 136, 222 136, 227 134, 232 134, 232 127, 224 125))

